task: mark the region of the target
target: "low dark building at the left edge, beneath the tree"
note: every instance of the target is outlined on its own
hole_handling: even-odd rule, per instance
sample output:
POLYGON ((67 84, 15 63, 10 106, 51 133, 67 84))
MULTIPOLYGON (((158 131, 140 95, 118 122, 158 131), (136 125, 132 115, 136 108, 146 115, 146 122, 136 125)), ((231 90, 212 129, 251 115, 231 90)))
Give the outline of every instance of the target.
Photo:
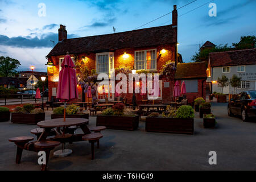
POLYGON ((4 88, 23 89, 26 86, 26 82, 19 78, 0 77, 0 86, 3 86, 4 88))

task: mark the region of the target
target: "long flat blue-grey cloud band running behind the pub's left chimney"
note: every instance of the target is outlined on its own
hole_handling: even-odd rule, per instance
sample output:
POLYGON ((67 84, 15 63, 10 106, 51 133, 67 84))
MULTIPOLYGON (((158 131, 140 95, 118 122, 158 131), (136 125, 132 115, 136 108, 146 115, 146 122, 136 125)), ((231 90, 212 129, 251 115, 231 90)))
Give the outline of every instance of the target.
MULTIPOLYGON (((69 34, 68 38, 76 38, 75 34, 69 34)), ((18 36, 9 38, 5 35, 0 35, 0 45, 20 47, 20 48, 39 48, 39 47, 52 47, 52 42, 50 40, 58 42, 58 34, 48 33, 42 34, 40 37, 36 36, 31 38, 31 36, 18 36)))

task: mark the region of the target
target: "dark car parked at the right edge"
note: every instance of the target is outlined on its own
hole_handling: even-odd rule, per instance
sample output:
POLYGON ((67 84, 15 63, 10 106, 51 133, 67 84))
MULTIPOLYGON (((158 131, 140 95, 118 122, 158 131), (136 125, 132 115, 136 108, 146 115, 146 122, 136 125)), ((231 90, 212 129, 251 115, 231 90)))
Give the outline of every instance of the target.
POLYGON ((256 117, 256 90, 248 90, 238 94, 229 101, 228 115, 241 115, 244 122, 256 117))

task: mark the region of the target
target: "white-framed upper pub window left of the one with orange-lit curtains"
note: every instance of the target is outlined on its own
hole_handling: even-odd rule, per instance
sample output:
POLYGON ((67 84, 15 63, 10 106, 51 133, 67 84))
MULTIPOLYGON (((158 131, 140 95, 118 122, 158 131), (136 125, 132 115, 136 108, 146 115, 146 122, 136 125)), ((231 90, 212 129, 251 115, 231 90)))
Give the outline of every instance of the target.
POLYGON ((96 70, 98 74, 113 73, 114 53, 113 52, 96 53, 96 70))

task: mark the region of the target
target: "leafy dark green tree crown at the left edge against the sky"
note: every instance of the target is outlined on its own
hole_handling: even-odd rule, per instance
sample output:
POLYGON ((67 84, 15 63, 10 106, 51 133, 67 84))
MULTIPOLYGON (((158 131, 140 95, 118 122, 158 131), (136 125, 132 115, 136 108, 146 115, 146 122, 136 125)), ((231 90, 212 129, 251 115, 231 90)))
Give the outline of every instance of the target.
POLYGON ((16 69, 19 68, 20 63, 16 59, 11 57, 0 56, 0 76, 10 77, 14 76, 17 72, 16 69))

